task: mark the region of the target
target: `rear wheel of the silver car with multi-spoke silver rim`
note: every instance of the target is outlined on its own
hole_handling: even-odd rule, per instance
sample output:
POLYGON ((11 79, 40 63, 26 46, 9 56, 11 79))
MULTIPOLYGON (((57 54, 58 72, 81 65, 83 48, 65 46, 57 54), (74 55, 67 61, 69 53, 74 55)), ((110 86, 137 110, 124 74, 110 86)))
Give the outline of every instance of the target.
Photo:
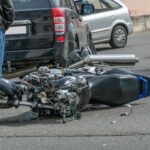
POLYGON ((110 45, 113 48, 123 48, 127 43, 128 35, 123 26, 116 26, 111 35, 110 45))

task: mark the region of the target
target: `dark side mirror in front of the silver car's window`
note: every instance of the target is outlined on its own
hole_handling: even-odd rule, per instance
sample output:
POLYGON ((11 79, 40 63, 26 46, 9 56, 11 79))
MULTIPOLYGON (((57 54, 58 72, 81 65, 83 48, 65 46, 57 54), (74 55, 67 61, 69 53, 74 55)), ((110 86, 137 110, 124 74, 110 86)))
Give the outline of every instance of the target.
POLYGON ((81 9, 81 14, 82 15, 92 14, 94 10, 95 8, 93 4, 83 4, 81 9))

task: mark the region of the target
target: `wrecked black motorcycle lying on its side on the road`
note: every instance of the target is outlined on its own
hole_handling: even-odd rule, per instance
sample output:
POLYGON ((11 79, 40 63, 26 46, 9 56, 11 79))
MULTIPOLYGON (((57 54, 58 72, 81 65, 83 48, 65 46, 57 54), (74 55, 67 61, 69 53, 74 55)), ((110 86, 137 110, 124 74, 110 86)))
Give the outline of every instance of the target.
POLYGON ((40 67, 21 81, 0 79, 0 108, 30 107, 38 116, 80 117, 89 103, 120 106, 150 95, 150 78, 108 64, 135 64, 135 55, 89 55, 64 69, 40 67), (24 96, 25 95, 25 96, 24 96))

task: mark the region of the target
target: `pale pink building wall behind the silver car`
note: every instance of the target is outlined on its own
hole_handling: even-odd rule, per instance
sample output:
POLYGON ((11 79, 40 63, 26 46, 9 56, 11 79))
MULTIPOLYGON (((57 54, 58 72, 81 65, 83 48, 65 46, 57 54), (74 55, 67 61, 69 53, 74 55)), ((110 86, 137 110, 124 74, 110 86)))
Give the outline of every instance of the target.
POLYGON ((122 0, 130 9, 131 16, 150 15, 150 0, 122 0))

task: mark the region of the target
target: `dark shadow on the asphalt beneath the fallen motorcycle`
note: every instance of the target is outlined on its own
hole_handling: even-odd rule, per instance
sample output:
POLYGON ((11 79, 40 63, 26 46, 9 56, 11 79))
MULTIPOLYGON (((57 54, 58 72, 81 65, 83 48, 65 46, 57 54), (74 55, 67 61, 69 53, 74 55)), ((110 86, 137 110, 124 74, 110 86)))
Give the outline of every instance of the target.
MULTIPOLYGON (((141 103, 133 103, 132 106, 135 105, 141 105, 141 103)), ((118 106, 118 107, 126 107, 125 105, 123 106, 118 106)), ((87 112, 87 111, 102 111, 102 110, 112 110, 116 109, 117 107, 109 107, 105 105, 99 105, 99 104, 94 104, 94 105, 89 105, 82 113, 87 112)), ((82 119, 82 118, 81 118, 82 119)), ((68 118, 67 121, 74 120, 73 118, 68 118)), ((25 125, 34 125, 34 124, 61 124, 62 123, 62 118, 59 116, 48 116, 48 117, 37 117, 34 113, 31 111, 27 111, 24 113, 21 113, 20 115, 17 116, 11 116, 11 117, 6 117, 3 119, 0 119, 0 126, 25 126, 25 125)))

